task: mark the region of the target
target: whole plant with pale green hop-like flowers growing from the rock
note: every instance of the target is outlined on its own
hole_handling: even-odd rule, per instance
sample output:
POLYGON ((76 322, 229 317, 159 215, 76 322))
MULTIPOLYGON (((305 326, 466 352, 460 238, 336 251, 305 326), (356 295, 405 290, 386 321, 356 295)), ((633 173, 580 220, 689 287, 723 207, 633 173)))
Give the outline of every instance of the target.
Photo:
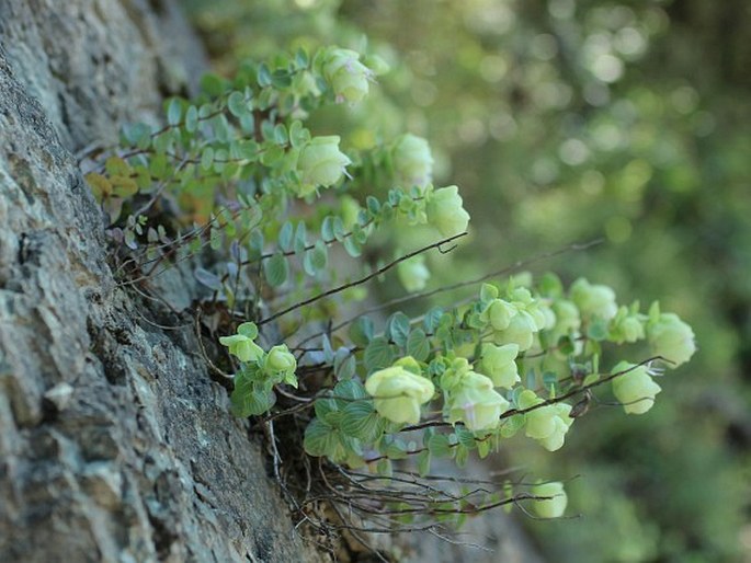
POLYGON ((111 223, 117 273, 140 287, 193 265, 206 301, 223 311, 215 324, 227 355, 215 360, 232 374, 212 368, 230 383, 232 412, 266 428, 275 475, 301 463, 307 476, 297 481, 307 485, 287 480, 284 490, 312 526, 432 529, 513 505, 562 516, 561 482, 455 491, 425 479, 441 481, 436 460, 464 466, 516 435, 560 449, 603 387, 626 413, 646 413, 663 369, 693 355, 694 334, 658 303, 647 312, 619 305, 584 278, 566 288, 554 274, 504 278, 507 268, 426 291, 424 254, 453 250, 469 223, 458 187, 432 184, 428 141, 403 133, 355 149, 306 125, 321 106, 363 103, 386 70, 374 55, 300 49, 248 61, 232 79, 205 77, 195 100, 167 102, 164 125, 124 127, 120 147, 96 151, 103 162, 89 156, 87 174, 111 223), (430 227, 436 241, 412 251, 395 241, 398 257, 363 273, 373 234, 394 226, 430 227), (353 263, 331 255, 337 248, 353 263), (424 298, 424 313, 383 320, 385 303, 342 321, 363 285, 392 268, 409 292, 400 302, 424 298), (475 295, 453 307, 426 301, 470 286, 475 295), (634 360, 639 348, 626 346, 640 342, 648 355, 634 360), (274 425, 284 421, 281 449, 298 444, 296 461, 277 448, 274 425))

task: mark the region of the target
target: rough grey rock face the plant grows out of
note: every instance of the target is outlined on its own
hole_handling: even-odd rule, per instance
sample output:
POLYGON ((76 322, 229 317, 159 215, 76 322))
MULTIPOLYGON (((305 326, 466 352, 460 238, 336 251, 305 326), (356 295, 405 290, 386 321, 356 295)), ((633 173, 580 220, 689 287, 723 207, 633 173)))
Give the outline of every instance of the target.
POLYGON ((191 318, 116 284, 73 157, 198 74, 175 3, 0 2, 0 561, 322 559, 191 318))

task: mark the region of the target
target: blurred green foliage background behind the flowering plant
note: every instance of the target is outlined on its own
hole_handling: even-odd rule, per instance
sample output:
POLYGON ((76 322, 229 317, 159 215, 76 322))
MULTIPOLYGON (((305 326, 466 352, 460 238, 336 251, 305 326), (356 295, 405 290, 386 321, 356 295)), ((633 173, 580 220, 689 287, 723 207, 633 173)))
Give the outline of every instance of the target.
POLYGON ((603 237, 544 266, 693 325, 698 354, 647 415, 602 405, 560 452, 511 452, 581 475, 581 518, 527 522, 549 561, 751 560, 751 3, 186 3, 219 72, 300 45, 389 61, 367 102, 315 119, 345 146, 430 140, 474 239, 433 286, 603 237))

